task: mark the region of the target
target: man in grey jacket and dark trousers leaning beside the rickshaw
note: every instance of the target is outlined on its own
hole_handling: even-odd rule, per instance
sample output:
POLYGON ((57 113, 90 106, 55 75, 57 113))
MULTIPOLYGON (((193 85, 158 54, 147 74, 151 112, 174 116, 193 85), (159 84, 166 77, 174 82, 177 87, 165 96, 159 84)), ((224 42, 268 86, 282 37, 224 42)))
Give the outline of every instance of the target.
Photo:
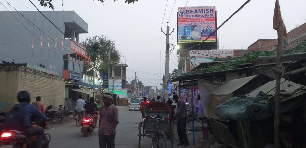
POLYGON ((177 146, 184 145, 188 146, 188 138, 186 134, 186 118, 187 118, 187 111, 186 111, 186 104, 184 100, 180 99, 177 95, 173 95, 173 100, 177 102, 176 104, 176 111, 173 115, 174 118, 177 119, 177 135, 180 139, 180 143, 177 146))

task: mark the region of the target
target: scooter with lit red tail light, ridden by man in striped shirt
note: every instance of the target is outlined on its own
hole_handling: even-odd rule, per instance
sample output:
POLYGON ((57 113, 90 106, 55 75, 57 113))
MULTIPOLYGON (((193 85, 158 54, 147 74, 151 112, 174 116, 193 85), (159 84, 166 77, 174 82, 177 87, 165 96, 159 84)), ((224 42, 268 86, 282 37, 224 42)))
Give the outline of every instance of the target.
POLYGON ((80 122, 81 129, 80 132, 83 133, 83 136, 86 137, 88 133, 91 133, 95 129, 94 117, 89 114, 85 114, 80 122))

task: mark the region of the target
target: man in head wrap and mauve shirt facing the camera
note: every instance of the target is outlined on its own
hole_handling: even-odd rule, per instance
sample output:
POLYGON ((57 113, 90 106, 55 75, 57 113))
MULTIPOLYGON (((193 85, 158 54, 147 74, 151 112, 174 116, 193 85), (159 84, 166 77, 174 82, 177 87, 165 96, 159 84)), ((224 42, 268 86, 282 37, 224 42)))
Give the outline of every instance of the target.
POLYGON ((109 94, 102 96, 104 105, 100 107, 99 146, 114 148, 116 127, 119 123, 118 108, 112 104, 113 97, 109 94))

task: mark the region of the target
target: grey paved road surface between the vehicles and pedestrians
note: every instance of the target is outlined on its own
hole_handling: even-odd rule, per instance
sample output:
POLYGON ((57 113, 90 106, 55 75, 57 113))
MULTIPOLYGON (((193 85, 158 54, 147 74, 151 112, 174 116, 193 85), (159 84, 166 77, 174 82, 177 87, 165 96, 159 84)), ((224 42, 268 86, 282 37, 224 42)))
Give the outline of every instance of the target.
MULTIPOLYGON (((137 148, 138 147, 138 124, 141 120, 139 111, 128 111, 125 107, 119 108, 119 124, 116 129, 116 148, 137 148)), ((70 147, 91 147, 98 148, 98 130, 95 129, 87 137, 83 137, 80 128, 75 122, 68 122, 63 125, 50 125, 54 129, 48 129, 50 133, 50 148, 70 148, 70 147)), ((170 141, 170 140, 168 140, 170 141)), ((151 147, 151 139, 141 137, 141 147, 151 147)), ((170 147, 170 142, 168 146, 170 147)))

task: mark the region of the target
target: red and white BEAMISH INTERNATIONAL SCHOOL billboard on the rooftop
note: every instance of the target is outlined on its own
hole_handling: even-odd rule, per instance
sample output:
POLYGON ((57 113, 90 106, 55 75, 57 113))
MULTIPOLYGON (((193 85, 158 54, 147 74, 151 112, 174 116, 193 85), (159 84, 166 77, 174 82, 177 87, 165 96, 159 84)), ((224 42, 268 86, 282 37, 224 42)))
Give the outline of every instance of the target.
MULTIPOLYGON (((217 28, 216 6, 178 7, 177 43, 202 42, 217 28)), ((216 33, 205 42, 215 42, 216 33)))

